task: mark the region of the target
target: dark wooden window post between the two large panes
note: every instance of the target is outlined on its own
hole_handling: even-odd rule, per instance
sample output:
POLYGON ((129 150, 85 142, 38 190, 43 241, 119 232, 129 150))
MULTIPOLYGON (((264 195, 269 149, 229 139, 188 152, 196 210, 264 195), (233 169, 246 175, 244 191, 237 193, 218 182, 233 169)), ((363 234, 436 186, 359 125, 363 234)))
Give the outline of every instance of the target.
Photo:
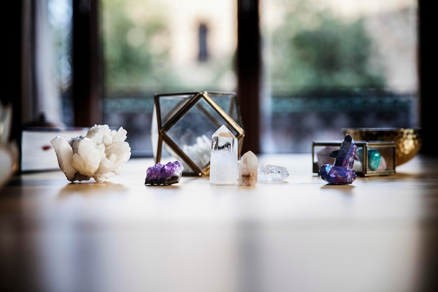
POLYGON ((237 94, 245 138, 242 153, 260 153, 259 0, 237 1, 237 94))

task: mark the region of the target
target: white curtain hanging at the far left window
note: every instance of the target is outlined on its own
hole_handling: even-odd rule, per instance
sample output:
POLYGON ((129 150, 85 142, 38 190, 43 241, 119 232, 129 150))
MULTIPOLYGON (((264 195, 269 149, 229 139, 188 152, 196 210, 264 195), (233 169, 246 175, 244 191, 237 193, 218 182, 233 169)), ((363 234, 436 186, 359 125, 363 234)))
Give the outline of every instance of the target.
POLYGON ((50 122, 62 124, 48 0, 24 0, 23 10, 22 123, 44 115, 50 122))

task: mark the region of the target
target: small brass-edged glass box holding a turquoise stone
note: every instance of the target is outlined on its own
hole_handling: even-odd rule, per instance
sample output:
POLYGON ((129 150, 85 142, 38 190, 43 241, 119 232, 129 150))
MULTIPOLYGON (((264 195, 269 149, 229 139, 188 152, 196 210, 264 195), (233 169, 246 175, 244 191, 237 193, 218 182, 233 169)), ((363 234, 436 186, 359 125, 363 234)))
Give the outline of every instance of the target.
MULTIPOLYGON (((326 163, 334 164, 332 151, 341 148, 342 141, 313 141, 313 173, 326 163)), ((358 146, 353 169, 358 176, 395 174, 395 141, 355 141, 358 146)))

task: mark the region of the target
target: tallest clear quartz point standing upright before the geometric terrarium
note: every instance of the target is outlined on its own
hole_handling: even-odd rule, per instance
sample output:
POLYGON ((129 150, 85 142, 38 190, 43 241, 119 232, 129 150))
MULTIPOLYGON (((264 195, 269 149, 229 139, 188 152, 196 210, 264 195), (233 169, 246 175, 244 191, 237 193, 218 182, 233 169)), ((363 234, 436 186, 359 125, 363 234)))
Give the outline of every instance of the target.
POLYGON ((236 184, 239 177, 238 141, 225 125, 211 136, 210 183, 236 184))

